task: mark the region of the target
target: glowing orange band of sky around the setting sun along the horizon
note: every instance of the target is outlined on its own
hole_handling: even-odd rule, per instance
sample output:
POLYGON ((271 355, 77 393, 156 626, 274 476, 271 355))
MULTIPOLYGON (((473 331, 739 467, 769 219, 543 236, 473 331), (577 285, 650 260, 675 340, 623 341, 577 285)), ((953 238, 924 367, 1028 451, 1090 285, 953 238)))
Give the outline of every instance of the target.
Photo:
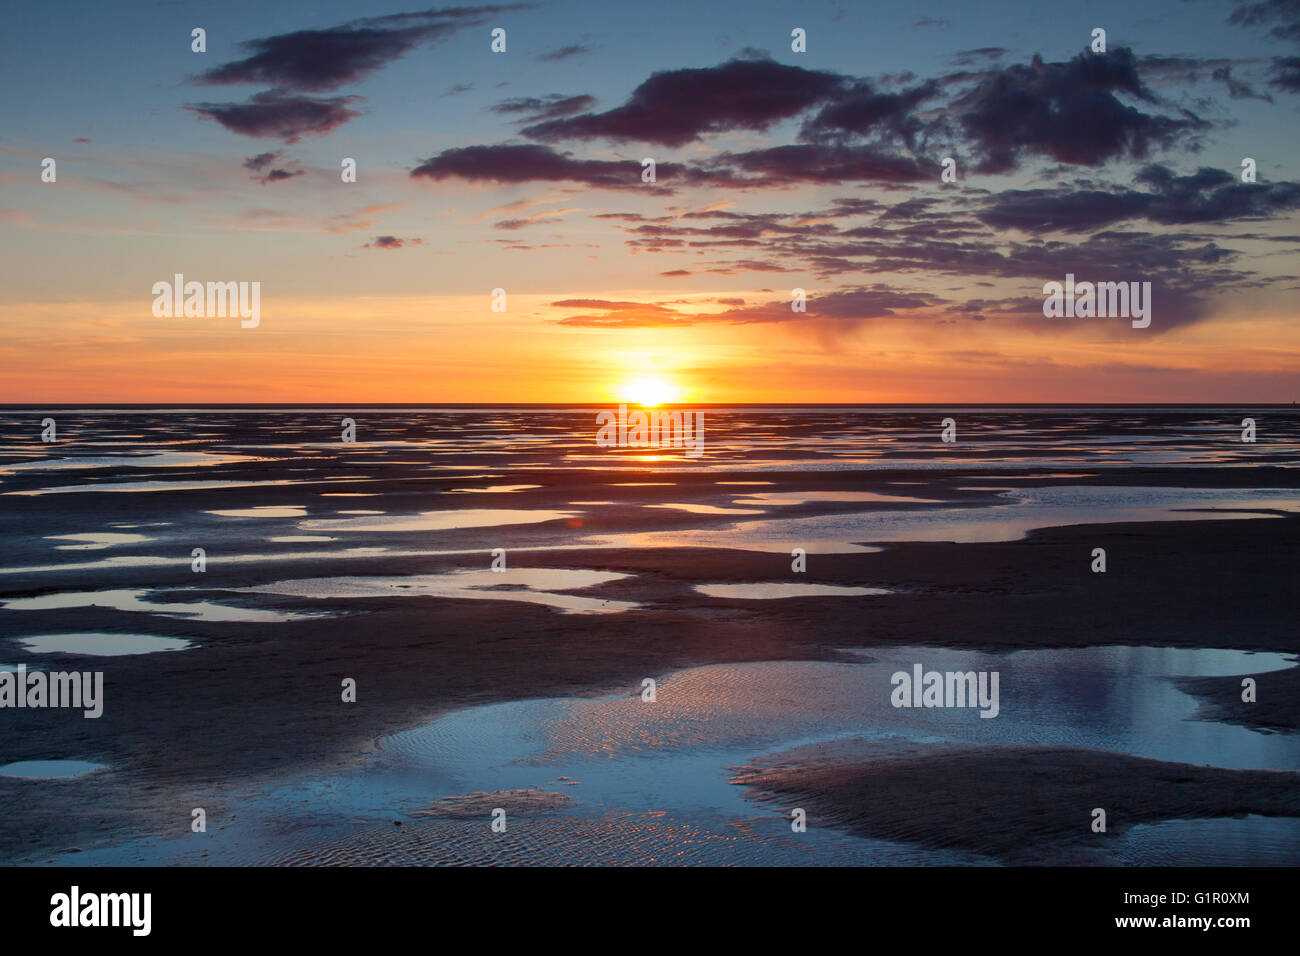
MULTIPOLYGON (((729 290, 728 290, 729 291, 729 290)), ((568 290, 517 295, 490 342, 481 297, 268 298, 261 324, 159 319, 133 300, 0 303, 0 402, 1291 402, 1300 323, 1243 306, 1160 336, 890 320, 563 326, 568 290), (1122 346, 1122 347, 1119 347, 1122 346)), ((640 290, 607 293, 632 300, 640 290)), ((759 299, 760 293, 746 293, 759 299)))

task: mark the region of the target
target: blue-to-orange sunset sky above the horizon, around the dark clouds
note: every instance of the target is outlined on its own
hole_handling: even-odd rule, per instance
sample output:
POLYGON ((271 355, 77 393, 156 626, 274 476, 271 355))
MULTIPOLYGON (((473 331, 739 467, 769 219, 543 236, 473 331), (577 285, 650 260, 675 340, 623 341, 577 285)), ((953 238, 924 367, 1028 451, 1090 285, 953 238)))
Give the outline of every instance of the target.
MULTIPOLYGON (((1288 186, 1297 178, 1300 124, 1296 92, 1279 79, 1279 64, 1296 56, 1300 34, 1287 4, 562 1, 471 8, 480 13, 458 21, 445 36, 381 57, 373 70, 360 70, 332 88, 291 91, 308 99, 348 98, 341 101, 356 113, 296 142, 242 135, 195 111, 242 103, 268 90, 268 82, 202 82, 200 74, 248 57, 250 42, 289 38, 283 44, 291 47, 300 31, 344 27, 363 18, 380 23, 387 14, 421 9, 408 4, 359 9, 346 3, 53 3, 8 12, 9 29, 0 36, 10 94, 0 134, 0 304, 9 310, 6 321, 22 323, 22 310, 49 317, 48 334, 38 334, 27 320, 21 341, 8 346, 8 358, 34 369, 16 388, 31 388, 38 375, 66 384, 78 368, 101 368, 90 359, 94 321, 114 329, 107 341, 124 351, 153 355, 135 369, 136 381, 144 376, 156 384, 151 398, 188 388, 195 380, 159 369, 202 369, 202 356, 213 354, 205 338, 211 330, 168 328, 155 334, 131 329, 126 317, 139 307, 142 289, 183 272, 260 280, 269 307, 278 302, 286 316, 290 303, 311 312, 313 298, 351 303, 354 312, 358 303, 369 303, 360 311, 373 316, 370 329, 377 333, 411 334, 419 328, 417 299, 437 299, 441 306, 433 311, 439 317, 429 317, 426 330, 441 329, 437 334, 447 337, 448 349, 462 354, 472 351, 482 319, 465 315, 460 299, 508 287, 536 302, 521 298, 526 310, 491 321, 533 342, 536 355, 562 360, 584 330, 578 352, 627 352, 642 359, 620 362, 672 365, 679 377, 701 382, 688 389, 701 398, 745 393, 737 377, 751 362, 745 356, 774 337, 789 350, 792 380, 805 382, 792 388, 805 394, 811 388, 807 376, 838 382, 826 398, 883 399, 853 384, 866 355, 897 363, 890 394, 906 381, 930 389, 945 381, 954 393, 979 389, 972 401, 988 399, 996 397, 988 394, 991 382, 1023 376, 1013 389, 1017 395, 1048 398, 1041 393, 1050 390, 1049 381, 1015 371, 1024 367, 1020 363, 1041 364, 1031 356, 1043 347, 1043 330, 1034 326, 1034 310, 1026 302, 1043 282, 1060 280, 1056 273, 1072 261, 1048 252, 1078 243, 1080 268, 1113 261, 1119 271, 1149 269, 1157 285, 1165 284, 1167 321, 1157 323, 1156 345, 1144 343, 1143 360, 1123 376, 1128 382, 1123 388, 1134 389, 1134 397, 1184 401, 1200 385, 1212 385, 1226 398, 1254 382, 1275 401, 1290 401, 1295 375, 1287 365, 1296 341, 1287 300, 1294 300, 1296 286, 1288 278, 1296 272, 1296 243, 1284 237, 1300 232, 1288 186), (1242 10, 1239 20, 1245 22, 1230 23, 1234 10, 1242 10), (207 31, 202 55, 190 49, 196 26, 207 31), (495 26, 507 30, 504 55, 489 49, 495 26), (1026 82, 1035 56, 1046 69, 1061 72, 1066 85, 1076 82, 1069 64, 1083 53, 1097 26, 1108 34, 1106 56, 1127 64, 1123 69, 1144 90, 1139 96, 1118 87, 1105 92, 1108 108, 1136 111, 1144 124, 1156 124, 1150 134, 1141 131, 1145 126, 1128 130, 1150 138, 1143 150, 1098 148, 1080 156, 1076 144, 1058 148, 1048 134, 989 131, 989 124, 1015 121, 1014 113, 997 112, 991 92, 996 83, 1026 82), (806 53, 790 51, 793 27, 807 30, 806 53), (703 85, 737 59, 770 64, 774 95, 788 77, 798 81, 781 73, 784 68, 814 79, 858 82, 888 96, 932 83, 920 101, 898 112, 924 130, 919 143, 883 129, 861 130, 861 139, 835 139, 849 143, 849 150, 879 147, 911 164, 911 172, 885 179, 792 178, 788 169, 776 176, 768 163, 775 157, 760 153, 800 143, 798 148, 811 150, 807 124, 816 116, 820 94, 811 95, 806 107, 755 125, 705 117, 699 134, 679 143, 637 142, 634 133, 569 135, 578 129, 576 122, 607 130, 602 118, 607 111, 634 103, 655 74, 701 70, 703 85), (516 122, 523 113, 498 109, 521 98, 578 96, 590 99, 562 117, 559 137, 536 134, 528 121, 516 122), (972 131, 972 112, 984 117, 982 133, 972 131), (1173 131, 1160 133, 1160 124, 1171 124, 1173 131), (994 140, 1009 144, 1014 159, 994 168, 985 156, 985 168, 979 169, 982 150, 994 140), (464 161, 456 160, 458 150, 481 147, 497 151, 484 156, 506 161, 506 151, 520 146, 567 163, 625 163, 632 187, 515 172, 502 181, 467 173, 464 161), (931 169, 939 153, 948 152, 958 156, 961 177, 945 191, 931 169), (58 163, 57 183, 39 181, 46 156, 58 163), (248 166, 257 156, 269 159, 248 166), (677 164, 699 178, 659 191, 638 190, 634 176, 644 156, 677 164), (1247 194, 1227 179, 1196 179, 1200 169, 1235 177, 1243 156, 1257 160, 1260 181, 1271 190, 1266 202, 1260 202, 1261 191, 1247 194), (356 183, 339 182, 342 157, 356 159, 356 183), (753 165, 760 160, 760 166, 753 165), (723 169, 727 163, 738 165, 723 169), (413 177, 421 164, 429 164, 430 176, 413 177), (1166 185, 1143 174, 1153 164, 1165 170, 1166 185), (264 179, 272 169, 282 178, 264 179), (740 187, 729 185, 741 179, 740 187), (1022 195, 1026 190, 1034 194, 1022 195), (1153 191, 1161 193, 1152 200, 1156 212, 1060 225, 1052 219, 1065 215, 1070 196, 1096 195, 1105 202, 1114 196, 1117 204, 1145 209, 1153 191), (909 199, 922 206, 902 206, 909 199), (842 219, 835 230, 842 238, 826 238, 829 233, 818 232, 827 229, 826 213, 846 208, 842 203, 849 200, 874 206, 870 212, 864 207, 859 221, 842 219), (1028 219, 1022 216, 1026 204, 1035 207, 1028 219), (1216 217, 1218 209, 1228 212, 1216 217), (714 217, 719 226, 728 221, 723 217, 741 216, 759 224, 757 238, 706 235, 688 221, 714 217), (1037 225, 1024 225, 1031 219, 1037 225), (910 232, 885 235, 880 226, 871 235, 876 224, 902 220, 910 232), (946 235, 944 224, 956 224, 946 235), (1119 233, 1132 238, 1115 238, 1119 233), (850 248, 854 234, 875 245, 850 248), (1000 250, 1010 260, 1030 248, 1043 252, 1044 274, 1032 269, 1017 274, 1005 264, 983 273, 972 243, 1000 250), (1217 251, 1201 255, 1210 247, 1206 243, 1217 251), (827 304, 802 328, 779 308, 796 285, 827 304), (1216 299, 1221 287, 1231 289, 1226 302, 1216 299), (389 299, 387 312, 374 304, 389 299), (566 311, 555 302, 634 302, 645 308, 582 304, 566 311), (1265 317, 1266 329, 1252 333, 1247 326, 1243 341, 1238 323, 1245 307, 1265 317), (954 330, 961 347, 954 339, 953 352, 927 352, 913 341, 918 326, 933 328, 932 320, 948 324, 953 316, 974 316, 984 328, 954 330), (1222 333, 1206 338, 1214 323, 1222 333), (590 329, 598 329, 599 338, 589 338, 597 336, 590 329), (646 346, 647 329, 660 329, 654 347, 646 346), (753 341, 732 341, 745 329, 753 341), (1183 334, 1195 341, 1180 349, 1174 339, 1183 334), (1166 345, 1158 343, 1161 337, 1166 345), (659 345, 668 339, 668 346, 659 345), (1238 351, 1230 354, 1227 346, 1238 351), (693 362, 693 349, 712 358, 693 362), (34 359, 51 350, 64 350, 69 364, 34 359), (649 352, 655 355, 646 359, 649 352), (90 365, 75 364, 78 354, 90 365), (968 376, 944 380, 936 369, 950 365, 953 355, 965 355, 984 371, 972 368, 968 376), (1197 367, 1209 362, 1202 356, 1213 356, 1213 369, 1197 367), (923 375, 909 375, 909 367, 923 375)), ((385 21, 382 29, 394 23, 385 21)), ((1057 92, 1044 95, 1052 100, 1057 92)), ((680 100, 655 100, 655 109, 699 112, 689 90, 680 100)), ((1061 104, 1052 100, 1050 108, 1061 104)), ((343 334, 342 321, 322 317, 316 334, 343 334)), ((295 336, 309 336, 309 326, 299 324, 294 334, 287 326, 277 332, 272 324, 265 336, 283 336, 282 350, 302 347, 295 336)), ((1101 343, 1121 334, 1071 329, 1057 336, 1063 342, 1052 354, 1104 349, 1101 343)), ((252 380, 261 365, 240 362, 239 350, 247 347, 224 343, 217 354, 235 375, 252 380)), ((369 368, 382 375, 382 359, 374 362, 369 368)), ((516 372, 528 367, 525 359, 519 362, 516 372)), ((1070 401, 1084 401, 1100 388, 1097 359, 1076 354, 1067 362, 1070 401)), ((490 367, 478 360, 446 371, 450 380, 471 381, 490 367)), ((1114 371, 1108 369, 1108 381, 1114 371)), ((312 381, 343 375, 321 367, 312 381)), ((584 382, 578 389, 584 390, 595 373, 588 368, 567 380, 584 382)), ((419 382, 412 380, 410 388, 419 382)))

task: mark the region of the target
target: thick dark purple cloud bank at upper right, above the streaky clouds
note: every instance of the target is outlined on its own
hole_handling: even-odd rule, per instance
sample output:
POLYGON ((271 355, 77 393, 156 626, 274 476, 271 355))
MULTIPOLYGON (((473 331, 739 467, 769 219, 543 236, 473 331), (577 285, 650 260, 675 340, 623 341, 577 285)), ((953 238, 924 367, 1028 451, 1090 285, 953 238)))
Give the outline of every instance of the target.
MULTIPOLYGON (((970 51, 989 57, 1001 52, 970 51)), ((1161 75, 1213 68, 1234 96, 1257 96, 1232 77, 1230 61, 1156 60, 1152 69, 1161 75)), ((604 138, 664 146, 682 146, 710 133, 767 130, 802 114, 800 143, 724 152, 689 164, 659 163, 658 191, 852 182, 911 189, 936 182, 937 157, 962 155, 962 150, 972 153, 975 172, 987 173, 1010 172, 1028 157, 1096 166, 1140 159, 1156 147, 1195 147, 1193 137, 1210 124, 1160 100, 1143 83, 1140 66, 1131 51, 1118 48, 1104 55, 1084 52, 1066 62, 1035 57, 1028 65, 913 82, 913 74, 867 81, 770 59, 731 60, 714 68, 655 73, 623 105, 606 112, 590 111, 590 95, 559 94, 508 99, 493 109, 524 116, 524 135, 543 140, 604 138), (931 103, 954 86, 963 88, 952 103, 931 103), (931 148, 936 140, 942 150, 931 148)), ((543 146, 448 150, 421 163, 413 174, 629 185, 615 161, 582 160, 543 146)), ((1098 221, 1113 220, 1101 216, 1098 221)))

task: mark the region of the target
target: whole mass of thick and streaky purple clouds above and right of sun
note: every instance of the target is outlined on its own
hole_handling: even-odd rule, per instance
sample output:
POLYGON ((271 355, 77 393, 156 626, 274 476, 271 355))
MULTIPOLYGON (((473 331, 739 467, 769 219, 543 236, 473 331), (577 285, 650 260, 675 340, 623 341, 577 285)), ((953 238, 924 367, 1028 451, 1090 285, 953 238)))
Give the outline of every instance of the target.
MULTIPOLYGON (((971 51, 970 59, 989 61, 1002 55, 971 51)), ((733 60, 711 69, 654 74, 623 105, 606 112, 595 112, 590 96, 506 100, 494 111, 529 117, 523 121, 530 124, 524 134, 546 143, 447 150, 421 161, 412 176, 660 193, 689 186, 878 186, 871 198, 823 199, 823 208, 805 212, 690 211, 684 203, 598 213, 595 219, 614 221, 627 234, 630 252, 658 255, 662 264, 651 272, 662 277, 786 273, 790 285, 810 289, 809 312, 790 312, 779 294, 774 302, 737 303, 718 313, 696 313, 692 310, 698 306, 681 302, 588 299, 556 303, 567 310, 560 320, 567 325, 810 321, 818 330, 833 330, 905 317, 1041 325, 1043 284, 1074 273, 1080 281, 1152 282, 1153 334, 1158 334, 1206 317, 1221 294, 1275 285, 1240 268, 1240 254, 1219 245, 1222 238, 1191 226, 1286 215, 1300 207, 1300 187, 1242 183, 1236 170, 1204 168, 1179 174, 1148 165, 1128 186, 1113 185, 1097 173, 1062 179, 1053 189, 991 194, 974 176, 958 187, 940 186, 937 160, 963 157, 962 178, 978 169, 1010 172, 1035 161, 1056 179, 1069 177, 1070 166, 1096 168, 1161 148, 1195 148, 1196 137, 1210 124, 1153 90, 1192 82, 1187 78, 1195 75, 1225 85, 1234 99, 1257 96, 1234 74, 1235 66, 1231 60, 1139 60, 1121 48, 1054 64, 1035 57, 1030 64, 987 66, 940 81, 906 74, 868 81, 770 59, 733 60), (753 82, 740 88, 746 70, 753 82), (776 92, 768 96, 770 91, 776 92), (646 155, 640 150, 628 150, 623 160, 589 159, 584 150, 560 151, 550 144, 603 138, 682 146, 708 134, 766 131, 783 120, 802 124, 797 142, 692 153, 686 163, 660 161, 655 187, 640 179, 638 157, 646 155), (932 148, 935 143, 939 148, 932 148), (889 203, 890 191, 911 198, 889 203), (1186 230, 1154 234, 1121 228, 1143 220, 1186 230), (1035 238, 1009 238, 1009 229, 1035 238), (1062 235, 1037 235, 1053 232, 1088 238, 1067 242, 1062 235), (849 285, 861 282, 863 274, 885 273, 902 276, 907 284, 906 277, 916 277, 915 285, 926 291, 849 285), (987 294, 1010 293, 1010 298, 945 299, 933 293, 936 281, 940 287, 996 287, 998 293, 987 294)), ((503 220, 498 226, 521 228, 529 221, 536 222, 503 220)), ((1053 330, 1070 334, 1082 328, 1088 324, 1053 330)))

